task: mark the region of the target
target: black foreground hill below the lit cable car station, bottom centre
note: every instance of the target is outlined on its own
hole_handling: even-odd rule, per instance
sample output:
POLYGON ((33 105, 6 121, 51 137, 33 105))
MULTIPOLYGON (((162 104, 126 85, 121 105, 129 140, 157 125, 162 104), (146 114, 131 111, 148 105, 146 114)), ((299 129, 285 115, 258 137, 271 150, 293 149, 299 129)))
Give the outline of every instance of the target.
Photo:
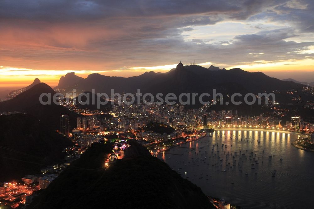
MULTIPOLYGON (((135 142, 136 143, 136 142, 135 142)), ((104 169, 112 145, 93 144, 30 208, 213 208, 201 189, 137 143, 104 169), (148 154, 147 154, 148 153, 148 154), (75 192, 74 192, 75 191, 75 192)))

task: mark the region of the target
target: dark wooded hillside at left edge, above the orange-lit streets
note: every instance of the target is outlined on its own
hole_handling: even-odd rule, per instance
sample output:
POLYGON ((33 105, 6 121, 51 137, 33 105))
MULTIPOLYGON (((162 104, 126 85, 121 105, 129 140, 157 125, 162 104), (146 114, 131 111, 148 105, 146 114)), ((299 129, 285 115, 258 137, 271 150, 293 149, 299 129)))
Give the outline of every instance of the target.
POLYGON ((0 116, 0 182, 20 180, 64 159, 62 150, 73 143, 40 125, 30 115, 0 116))

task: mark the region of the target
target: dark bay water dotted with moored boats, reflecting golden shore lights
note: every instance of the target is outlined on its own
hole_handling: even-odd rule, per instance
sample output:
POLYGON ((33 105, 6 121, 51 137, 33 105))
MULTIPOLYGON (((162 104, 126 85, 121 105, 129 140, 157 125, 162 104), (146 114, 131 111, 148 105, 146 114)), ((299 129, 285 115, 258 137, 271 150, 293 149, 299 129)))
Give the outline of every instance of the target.
POLYGON ((244 208, 309 207, 314 153, 293 147, 291 142, 298 137, 273 131, 220 130, 212 137, 188 142, 158 157, 200 186, 206 195, 244 208))

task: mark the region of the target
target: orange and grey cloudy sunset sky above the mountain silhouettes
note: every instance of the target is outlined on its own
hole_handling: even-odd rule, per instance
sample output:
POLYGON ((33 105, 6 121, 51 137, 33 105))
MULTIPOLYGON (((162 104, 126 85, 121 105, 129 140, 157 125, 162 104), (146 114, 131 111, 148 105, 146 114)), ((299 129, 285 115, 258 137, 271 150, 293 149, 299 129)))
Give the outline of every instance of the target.
POLYGON ((312 0, 2 0, 0 87, 195 62, 314 81, 312 0))

